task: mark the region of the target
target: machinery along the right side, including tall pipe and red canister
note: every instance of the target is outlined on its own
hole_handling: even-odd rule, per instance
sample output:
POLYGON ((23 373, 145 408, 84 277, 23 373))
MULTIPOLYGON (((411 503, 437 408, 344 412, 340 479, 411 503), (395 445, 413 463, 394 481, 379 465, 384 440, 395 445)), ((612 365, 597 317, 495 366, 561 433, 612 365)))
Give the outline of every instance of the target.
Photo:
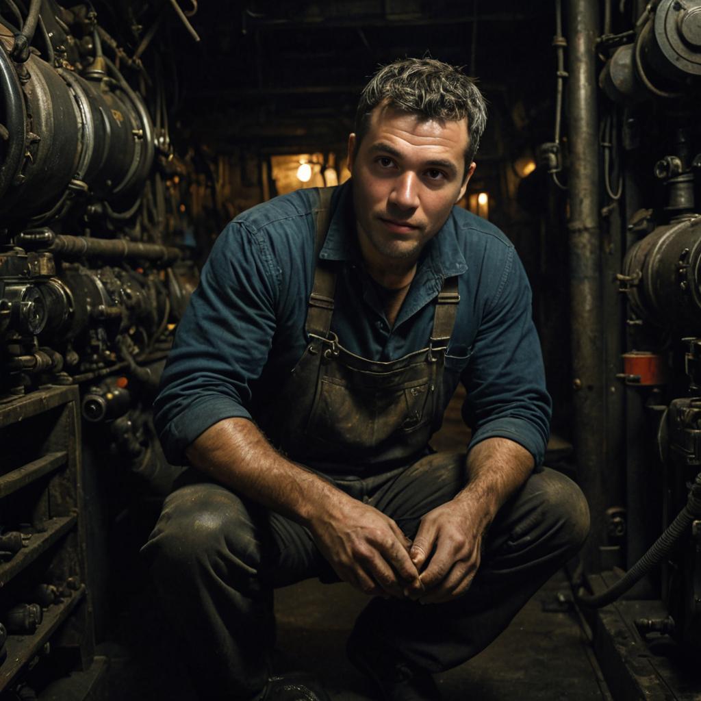
POLYGON ((646 646, 672 640, 680 662, 701 643, 701 3, 564 9, 569 138, 546 146, 569 190, 579 601, 618 600, 590 614, 614 696, 676 698, 683 674, 646 646))

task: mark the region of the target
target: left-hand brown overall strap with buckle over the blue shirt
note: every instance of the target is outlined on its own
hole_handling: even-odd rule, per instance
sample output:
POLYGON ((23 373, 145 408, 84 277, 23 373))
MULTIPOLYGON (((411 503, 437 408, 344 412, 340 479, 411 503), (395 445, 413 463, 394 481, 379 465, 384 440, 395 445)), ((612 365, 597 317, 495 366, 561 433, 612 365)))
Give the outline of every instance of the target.
POLYGON ((314 284, 309 296, 309 306, 306 318, 306 332, 326 338, 331 328, 331 318, 334 313, 334 292, 336 290, 336 271, 320 261, 319 254, 326 239, 331 220, 332 187, 318 189, 319 202, 314 210, 315 239, 314 239, 314 284))

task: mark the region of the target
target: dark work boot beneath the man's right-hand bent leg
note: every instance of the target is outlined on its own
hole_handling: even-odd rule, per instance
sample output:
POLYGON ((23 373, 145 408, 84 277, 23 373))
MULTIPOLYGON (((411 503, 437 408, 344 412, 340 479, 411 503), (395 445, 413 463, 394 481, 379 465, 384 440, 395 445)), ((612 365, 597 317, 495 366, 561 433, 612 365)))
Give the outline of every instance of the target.
POLYGON ((391 648, 371 642, 357 633, 346 644, 348 659, 374 681, 383 701, 437 701, 440 691, 433 676, 419 669, 391 648))

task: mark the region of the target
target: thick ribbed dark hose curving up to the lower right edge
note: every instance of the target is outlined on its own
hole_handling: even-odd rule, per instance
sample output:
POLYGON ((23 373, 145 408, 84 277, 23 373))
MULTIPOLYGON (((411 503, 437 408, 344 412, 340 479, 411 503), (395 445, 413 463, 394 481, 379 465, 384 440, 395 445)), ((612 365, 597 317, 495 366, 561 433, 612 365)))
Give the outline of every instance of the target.
POLYGON ((601 608, 611 604, 625 594, 635 583, 639 582, 653 567, 662 561, 677 540, 688 530, 691 522, 701 517, 701 472, 696 475, 689 489, 686 506, 674 521, 667 526, 662 535, 655 540, 652 547, 636 562, 625 575, 612 587, 601 594, 578 594, 577 601, 587 608, 601 608))

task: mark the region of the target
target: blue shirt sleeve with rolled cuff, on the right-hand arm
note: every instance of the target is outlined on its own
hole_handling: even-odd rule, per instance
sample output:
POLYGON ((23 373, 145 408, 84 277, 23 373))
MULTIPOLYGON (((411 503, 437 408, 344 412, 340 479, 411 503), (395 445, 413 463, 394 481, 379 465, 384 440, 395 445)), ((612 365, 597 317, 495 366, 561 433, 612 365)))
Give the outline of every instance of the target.
POLYGON ((501 264, 496 293, 486 300, 461 378, 467 389, 463 418, 472 428, 470 447, 486 438, 508 438, 528 450, 538 466, 550 433, 551 400, 531 287, 513 247, 505 250, 501 264))

